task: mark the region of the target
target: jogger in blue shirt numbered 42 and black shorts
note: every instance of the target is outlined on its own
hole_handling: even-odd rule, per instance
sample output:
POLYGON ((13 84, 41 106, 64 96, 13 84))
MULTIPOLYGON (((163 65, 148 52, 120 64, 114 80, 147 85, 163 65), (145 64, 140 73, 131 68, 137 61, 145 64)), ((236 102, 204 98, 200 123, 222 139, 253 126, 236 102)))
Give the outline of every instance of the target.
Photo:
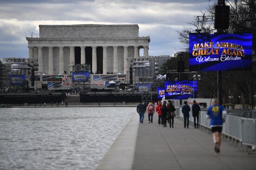
POLYGON ((212 131, 213 141, 215 144, 214 151, 220 153, 222 142, 222 126, 225 122, 227 111, 219 104, 217 99, 214 99, 213 105, 209 107, 206 118, 210 120, 210 127, 212 131))

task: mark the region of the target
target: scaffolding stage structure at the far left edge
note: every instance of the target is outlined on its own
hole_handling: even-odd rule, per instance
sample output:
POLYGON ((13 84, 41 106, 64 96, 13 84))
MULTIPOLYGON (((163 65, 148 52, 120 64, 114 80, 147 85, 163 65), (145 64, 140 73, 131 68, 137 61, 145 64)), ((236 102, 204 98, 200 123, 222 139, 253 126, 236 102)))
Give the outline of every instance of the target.
POLYGON ((32 72, 38 71, 38 63, 33 58, 8 57, 0 60, 0 89, 8 90, 10 77, 14 75, 25 75, 26 81, 30 80, 32 72))

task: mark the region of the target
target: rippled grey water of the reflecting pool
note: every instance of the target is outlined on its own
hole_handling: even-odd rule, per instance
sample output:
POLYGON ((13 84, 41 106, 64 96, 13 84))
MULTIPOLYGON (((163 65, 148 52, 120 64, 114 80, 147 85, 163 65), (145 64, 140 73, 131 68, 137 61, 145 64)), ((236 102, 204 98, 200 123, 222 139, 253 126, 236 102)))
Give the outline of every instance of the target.
POLYGON ((0 170, 92 170, 133 107, 0 109, 0 170))

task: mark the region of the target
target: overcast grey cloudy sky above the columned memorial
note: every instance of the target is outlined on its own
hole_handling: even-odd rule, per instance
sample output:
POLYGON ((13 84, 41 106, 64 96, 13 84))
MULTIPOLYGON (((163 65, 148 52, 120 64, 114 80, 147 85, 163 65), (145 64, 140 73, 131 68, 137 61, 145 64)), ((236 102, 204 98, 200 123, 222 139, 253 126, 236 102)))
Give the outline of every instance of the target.
POLYGON ((209 0, 0 0, 0 58, 27 57, 38 25, 138 24, 150 36, 149 55, 182 49, 177 30, 205 11, 209 0))

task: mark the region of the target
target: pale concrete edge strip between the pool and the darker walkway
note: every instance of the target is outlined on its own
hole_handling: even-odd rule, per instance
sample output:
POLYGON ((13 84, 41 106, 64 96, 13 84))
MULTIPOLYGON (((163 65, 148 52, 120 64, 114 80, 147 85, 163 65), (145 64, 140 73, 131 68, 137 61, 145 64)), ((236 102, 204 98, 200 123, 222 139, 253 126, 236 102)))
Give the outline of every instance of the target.
POLYGON ((131 170, 139 127, 139 116, 134 113, 95 170, 131 170))

